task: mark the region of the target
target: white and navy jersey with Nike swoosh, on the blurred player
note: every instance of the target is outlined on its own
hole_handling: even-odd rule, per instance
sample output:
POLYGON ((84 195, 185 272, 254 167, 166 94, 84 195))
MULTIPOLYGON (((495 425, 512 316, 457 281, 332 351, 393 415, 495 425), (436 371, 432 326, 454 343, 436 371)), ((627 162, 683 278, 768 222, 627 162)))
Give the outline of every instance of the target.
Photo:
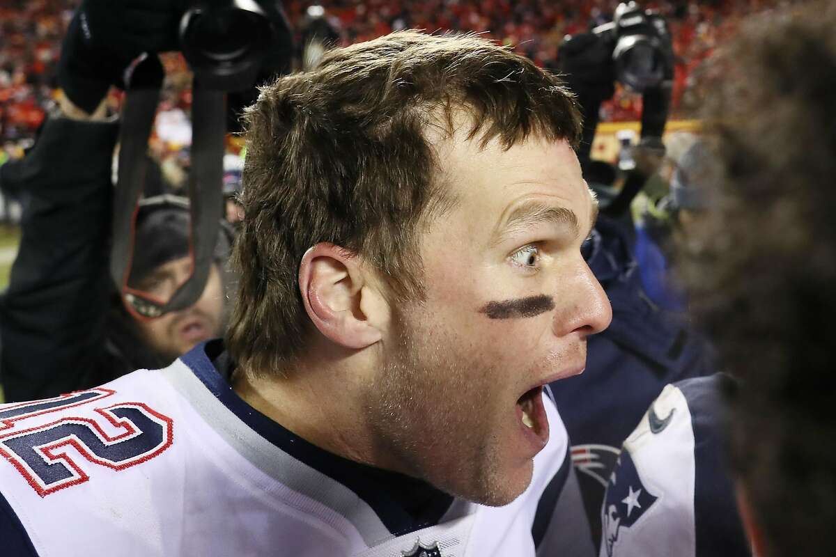
POLYGON ((721 373, 668 385, 609 477, 600 557, 751 555, 723 453, 721 373))

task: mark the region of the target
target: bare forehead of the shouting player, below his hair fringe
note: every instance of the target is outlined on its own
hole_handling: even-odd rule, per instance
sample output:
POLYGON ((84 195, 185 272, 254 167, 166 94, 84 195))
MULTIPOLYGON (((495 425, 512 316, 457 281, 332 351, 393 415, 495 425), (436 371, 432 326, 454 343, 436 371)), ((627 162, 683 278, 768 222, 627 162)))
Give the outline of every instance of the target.
POLYGON ((529 137, 509 149, 496 139, 480 143, 456 134, 437 149, 446 190, 473 226, 528 200, 571 210, 582 226, 590 224, 593 199, 566 141, 529 137))

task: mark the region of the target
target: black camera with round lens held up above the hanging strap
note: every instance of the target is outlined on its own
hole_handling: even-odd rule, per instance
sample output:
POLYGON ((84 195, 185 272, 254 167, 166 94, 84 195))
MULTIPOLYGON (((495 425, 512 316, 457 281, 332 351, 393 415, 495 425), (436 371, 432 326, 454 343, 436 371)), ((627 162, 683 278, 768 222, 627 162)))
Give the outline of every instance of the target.
POLYGON ((189 5, 180 22, 180 44, 201 87, 252 87, 276 37, 270 1, 198 0, 189 5))

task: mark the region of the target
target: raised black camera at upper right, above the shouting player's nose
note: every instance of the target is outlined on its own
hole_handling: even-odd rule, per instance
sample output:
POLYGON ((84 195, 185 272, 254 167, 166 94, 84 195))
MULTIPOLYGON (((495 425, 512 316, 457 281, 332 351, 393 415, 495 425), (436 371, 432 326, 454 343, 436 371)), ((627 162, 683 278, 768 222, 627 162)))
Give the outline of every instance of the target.
POLYGON ((615 78, 638 93, 658 87, 673 72, 665 19, 635 2, 620 3, 613 21, 592 30, 612 53, 615 78))

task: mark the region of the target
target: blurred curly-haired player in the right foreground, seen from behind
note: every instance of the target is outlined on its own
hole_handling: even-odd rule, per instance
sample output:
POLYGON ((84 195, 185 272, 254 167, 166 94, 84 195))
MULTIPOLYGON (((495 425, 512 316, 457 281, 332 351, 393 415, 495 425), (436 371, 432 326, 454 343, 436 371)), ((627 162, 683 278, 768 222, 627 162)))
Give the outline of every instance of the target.
POLYGON ((686 276, 739 387, 665 389, 624 443, 601 555, 833 554, 834 24, 832 2, 775 9, 713 61, 718 210, 686 276))

